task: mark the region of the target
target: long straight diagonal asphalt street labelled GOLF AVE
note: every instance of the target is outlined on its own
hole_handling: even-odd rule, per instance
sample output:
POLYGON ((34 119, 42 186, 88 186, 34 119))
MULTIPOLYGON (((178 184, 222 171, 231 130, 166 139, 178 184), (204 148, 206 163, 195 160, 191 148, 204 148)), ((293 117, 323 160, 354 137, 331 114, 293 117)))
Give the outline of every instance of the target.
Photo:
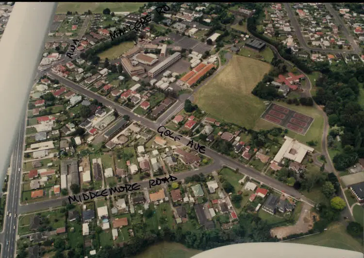
MULTIPOLYGON (((127 110, 126 108, 119 106, 115 102, 113 102, 105 97, 101 97, 98 94, 95 94, 94 92, 91 92, 72 81, 68 81, 67 79, 65 79, 61 76, 58 76, 54 73, 51 73, 51 76, 56 78, 61 83, 65 84, 67 87, 72 88, 74 91, 79 92, 79 93, 83 94, 84 96, 97 99, 99 102, 102 102, 105 106, 116 109, 116 111, 120 114, 129 115, 132 120, 140 122, 142 125, 148 127, 149 129, 153 129, 156 131, 161 126, 161 124, 159 124, 158 122, 153 122, 144 117, 136 115, 136 114, 132 113, 131 111, 127 110)), ((189 142, 189 139, 187 139, 186 137, 183 137, 180 142, 182 142, 182 144, 186 145, 189 142)), ((277 190, 283 190, 286 194, 289 194, 297 199, 302 198, 305 202, 307 202, 311 205, 314 204, 311 200, 305 198, 302 194, 300 194, 298 191, 296 191, 292 187, 289 187, 286 184, 279 182, 278 180, 275 180, 271 177, 261 174, 260 172, 254 170, 250 167, 246 167, 243 164, 241 164, 240 162, 232 160, 231 158, 228 158, 226 156, 223 156, 210 148, 206 148, 205 155, 214 159, 214 161, 216 163, 218 163, 219 165, 225 164, 232 168, 238 168, 239 172, 246 174, 249 177, 255 178, 256 180, 261 181, 263 184, 265 184, 267 186, 270 186, 277 190)), ((212 170, 210 169, 210 172, 211 171, 212 170)))

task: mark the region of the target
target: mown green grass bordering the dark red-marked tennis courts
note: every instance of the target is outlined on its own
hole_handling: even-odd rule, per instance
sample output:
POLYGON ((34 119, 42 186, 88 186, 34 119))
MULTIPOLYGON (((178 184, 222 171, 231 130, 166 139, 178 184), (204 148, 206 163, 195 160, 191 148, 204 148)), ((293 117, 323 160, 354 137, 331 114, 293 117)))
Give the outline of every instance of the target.
MULTIPOLYGON (((321 137, 322 137, 322 131, 324 129, 324 119, 323 119, 321 113, 314 107, 301 106, 301 105, 299 105, 299 106, 288 105, 285 102, 279 102, 279 101, 274 101, 274 103, 314 118, 314 122, 312 123, 310 129, 308 129, 306 135, 301 135, 301 134, 295 133, 291 130, 288 130, 287 136, 294 138, 303 144, 306 144, 306 142, 311 141, 311 140, 317 141, 317 145, 313 146, 313 147, 316 150, 321 151, 321 137)), ((255 130, 272 129, 274 127, 279 127, 279 126, 276 124, 270 123, 268 121, 265 121, 263 119, 259 119, 259 121, 256 123, 254 129, 255 130)))

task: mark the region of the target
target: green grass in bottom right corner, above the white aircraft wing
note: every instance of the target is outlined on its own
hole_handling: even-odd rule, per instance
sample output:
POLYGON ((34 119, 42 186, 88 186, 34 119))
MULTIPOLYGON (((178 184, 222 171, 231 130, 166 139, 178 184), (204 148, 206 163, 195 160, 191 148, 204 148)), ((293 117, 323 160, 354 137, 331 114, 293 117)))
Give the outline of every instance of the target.
POLYGON ((358 240, 347 234, 345 226, 339 223, 330 226, 328 230, 323 233, 287 242, 312 244, 363 252, 363 245, 358 240))

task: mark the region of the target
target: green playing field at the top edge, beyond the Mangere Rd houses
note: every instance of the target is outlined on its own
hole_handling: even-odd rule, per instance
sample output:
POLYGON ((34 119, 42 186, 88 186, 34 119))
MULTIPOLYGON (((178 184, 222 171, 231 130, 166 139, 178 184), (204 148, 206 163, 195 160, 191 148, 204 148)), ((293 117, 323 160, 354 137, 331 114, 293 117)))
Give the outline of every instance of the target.
POLYGON ((57 6, 57 13, 71 12, 87 12, 102 13, 105 8, 109 8, 112 12, 135 12, 145 2, 60 2, 57 6))

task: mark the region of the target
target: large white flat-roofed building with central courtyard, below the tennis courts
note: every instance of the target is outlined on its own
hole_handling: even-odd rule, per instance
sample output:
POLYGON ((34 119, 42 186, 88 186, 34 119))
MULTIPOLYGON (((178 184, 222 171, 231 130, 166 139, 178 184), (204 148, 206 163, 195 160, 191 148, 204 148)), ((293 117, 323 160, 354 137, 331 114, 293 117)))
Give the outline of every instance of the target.
POLYGON ((314 148, 301 144, 295 139, 288 136, 284 136, 284 139, 284 144, 273 159, 276 162, 281 162, 283 158, 287 158, 301 163, 307 152, 314 152, 314 148))

